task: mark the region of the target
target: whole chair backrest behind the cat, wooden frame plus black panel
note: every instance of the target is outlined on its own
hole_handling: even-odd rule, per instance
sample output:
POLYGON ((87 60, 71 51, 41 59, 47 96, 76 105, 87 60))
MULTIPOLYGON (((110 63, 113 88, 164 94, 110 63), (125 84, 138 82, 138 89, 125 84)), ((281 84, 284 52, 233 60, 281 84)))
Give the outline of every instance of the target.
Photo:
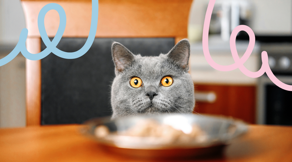
MULTIPOLYGON (((39 11, 47 3, 50 1, 22 0, 29 31, 26 42, 29 52, 38 53, 45 48, 37 29, 36 20, 39 11)), ((64 8, 67 17, 64 38, 61 39, 58 48, 67 52, 76 51, 82 47, 89 33, 91 1, 60 0, 57 3, 64 8)), ((98 63, 98 61, 100 61, 100 57, 111 61, 109 45, 112 40, 119 41, 134 53, 142 53, 142 55, 168 52, 169 48, 180 39, 187 38, 191 3, 192 0, 100 0, 96 39, 84 56, 66 60, 50 54, 42 60, 26 60, 27 126, 81 123, 91 117, 110 115, 108 90, 109 83, 113 79, 113 63, 106 61, 98 63), (149 51, 151 50, 149 47, 155 48, 149 51), (164 48, 159 49, 159 47, 164 48), (76 66, 71 66, 72 64, 76 64, 76 66), (109 68, 102 69, 103 67, 109 68), (80 76, 72 78, 77 73, 80 76), (57 79, 60 80, 57 81, 57 79), (104 84, 100 84, 100 87, 92 87, 88 83, 94 84, 98 79, 106 81, 104 84), (60 84, 64 80, 67 83, 60 84), (104 86, 106 84, 107 86, 104 86), (91 94, 94 93, 97 93, 97 96, 104 94, 102 97, 107 100, 92 96, 91 94), (53 94, 58 94, 58 97, 53 98, 53 94), (82 97, 83 99, 81 99, 82 97), (99 104, 100 108, 96 108, 99 104), (86 110, 86 108, 88 109, 86 110), (84 111, 76 112, 75 110, 84 111)), ((54 37, 58 24, 58 13, 54 10, 49 11, 45 17, 45 27, 49 37, 54 37)))

